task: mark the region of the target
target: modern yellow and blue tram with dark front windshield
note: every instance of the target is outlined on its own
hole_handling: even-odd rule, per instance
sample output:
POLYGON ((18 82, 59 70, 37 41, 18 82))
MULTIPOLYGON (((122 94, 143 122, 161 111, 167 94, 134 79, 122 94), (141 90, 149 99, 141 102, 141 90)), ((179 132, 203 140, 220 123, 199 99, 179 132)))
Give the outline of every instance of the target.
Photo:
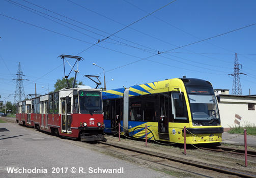
POLYGON ((102 92, 106 133, 184 143, 221 142, 223 128, 212 84, 174 78, 102 92))

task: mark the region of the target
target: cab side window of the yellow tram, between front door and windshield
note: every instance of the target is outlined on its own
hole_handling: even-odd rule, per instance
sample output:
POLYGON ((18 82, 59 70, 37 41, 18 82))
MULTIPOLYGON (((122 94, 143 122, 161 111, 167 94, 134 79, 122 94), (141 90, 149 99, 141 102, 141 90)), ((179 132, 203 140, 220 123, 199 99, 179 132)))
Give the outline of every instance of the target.
POLYGON ((175 122, 182 122, 176 120, 187 120, 188 118, 185 100, 181 100, 179 94, 179 92, 172 93, 173 114, 175 122))

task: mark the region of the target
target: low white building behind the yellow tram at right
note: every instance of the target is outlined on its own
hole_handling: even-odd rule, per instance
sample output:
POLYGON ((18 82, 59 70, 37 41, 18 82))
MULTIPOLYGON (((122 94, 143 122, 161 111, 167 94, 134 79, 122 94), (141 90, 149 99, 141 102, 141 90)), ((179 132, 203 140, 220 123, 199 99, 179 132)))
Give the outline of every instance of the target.
POLYGON ((229 95, 229 90, 215 90, 220 96, 219 114, 224 131, 233 127, 256 126, 256 96, 229 95))

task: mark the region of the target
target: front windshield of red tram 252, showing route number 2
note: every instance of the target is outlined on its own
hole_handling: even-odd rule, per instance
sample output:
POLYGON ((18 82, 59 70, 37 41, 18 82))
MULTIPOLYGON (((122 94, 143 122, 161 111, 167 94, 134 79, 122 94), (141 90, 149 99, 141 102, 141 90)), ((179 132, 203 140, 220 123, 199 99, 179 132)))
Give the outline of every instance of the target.
POLYGON ((102 114, 101 92, 80 90, 78 98, 80 113, 102 114))

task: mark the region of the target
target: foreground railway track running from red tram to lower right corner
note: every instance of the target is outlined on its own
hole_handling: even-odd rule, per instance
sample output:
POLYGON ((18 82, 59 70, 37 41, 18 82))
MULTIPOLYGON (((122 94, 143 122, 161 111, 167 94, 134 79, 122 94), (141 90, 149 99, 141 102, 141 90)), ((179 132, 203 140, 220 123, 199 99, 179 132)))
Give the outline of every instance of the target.
MULTIPOLYGON (((116 143, 100 142, 98 145, 106 150, 114 150, 127 156, 143 159, 147 162, 154 162, 163 167, 169 167, 172 169, 178 169, 179 171, 185 171, 189 174, 193 174, 200 177, 226 177, 227 175, 234 175, 237 177, 256 177, 255 172, 239 172, 237 170, 231 170, 227 168, 216 167, 213 165, 207 165, 191 160, 170 157, 168 155, 153 153, 134 147, 124 146, 116 143), (103 145, 103 146, 102 146, 103 145), (119 149, 118 151, 116 149, 119 149), (201 172, 201 173, 198 173, 201 172), (213 176, 214 175, 214 176, 213 176)), ((233 177, 234 177, 233 176, 233 177)))

